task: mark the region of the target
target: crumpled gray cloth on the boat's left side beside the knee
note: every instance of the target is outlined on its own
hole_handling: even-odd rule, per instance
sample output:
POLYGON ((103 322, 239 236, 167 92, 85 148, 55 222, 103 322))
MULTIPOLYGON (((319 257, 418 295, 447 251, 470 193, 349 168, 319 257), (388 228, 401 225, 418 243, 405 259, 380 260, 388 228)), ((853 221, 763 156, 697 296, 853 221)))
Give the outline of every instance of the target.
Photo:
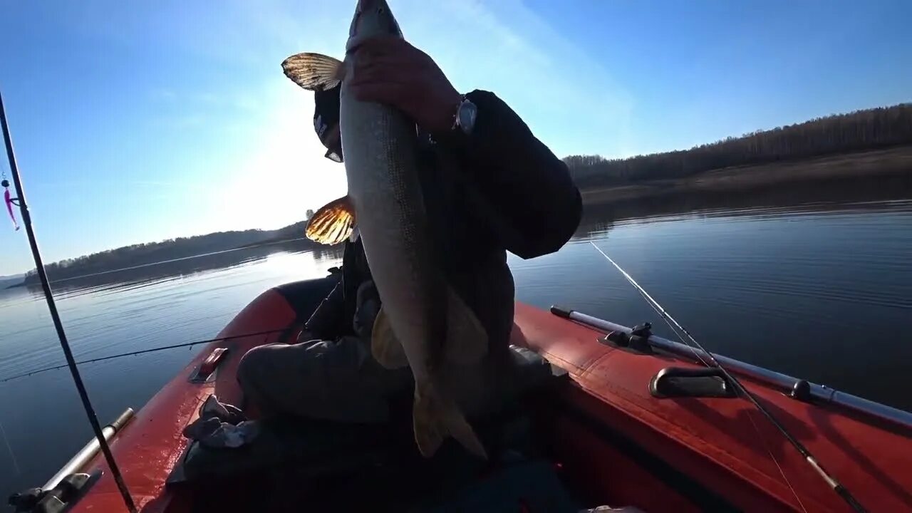
POLYGON ((248 445, 259 433, 259 423, 247 420, 232 404, 220 403, 214 394, 203 401, 199 417, 183 428, 184 436, 211 448, 248 445))

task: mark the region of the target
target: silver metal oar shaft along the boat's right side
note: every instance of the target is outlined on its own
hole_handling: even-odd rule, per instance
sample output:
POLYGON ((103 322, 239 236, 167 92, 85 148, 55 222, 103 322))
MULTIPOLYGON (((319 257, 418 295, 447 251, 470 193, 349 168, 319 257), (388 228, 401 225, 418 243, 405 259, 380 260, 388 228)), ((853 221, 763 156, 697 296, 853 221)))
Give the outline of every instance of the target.
MULTIPOLYGON (((627 328, 626 326, 621 326, 620 324, 615 324, 614 322, 609 322, 605 319, 598 319, 597 317, 592 317, 591 315, 586 315, 585 313, 580 313, 575 310, 551 307, 551 313, 558 317, 575 320, 586 326, 596 328, 597 330, 622 331, 627 334, 631 331, 630 328, 627 328)), ((667 340, 653 335, 649 337, 648 342, 658 350, 666 351, 691 361, 699 361, 696 355, 700 355, 700 358, 703 359, 707 358, 707 355, 703 351, 700 351, 699 348, 691 348, 686 344, 674 340, 667 340), (694 353, 696 353, 696 355, 694 353)), ((787 374, 782 374, 782 372, 771 371, 727 356, 721 356, 716 353, 713 353, 712 356, 730 372, 741 374, 753 381, 772 385, 782 390, 792 390, 795 383, 802 381, 787 374)), ((869 401, 851 393, 839 392, 825 385, 808 382, 808 386, 811 397, 815 401, 832 403, 855 413, 871 415, 877 419, 912 429, 912 414, 909 412, 887 406, 886 404, 869 401)))

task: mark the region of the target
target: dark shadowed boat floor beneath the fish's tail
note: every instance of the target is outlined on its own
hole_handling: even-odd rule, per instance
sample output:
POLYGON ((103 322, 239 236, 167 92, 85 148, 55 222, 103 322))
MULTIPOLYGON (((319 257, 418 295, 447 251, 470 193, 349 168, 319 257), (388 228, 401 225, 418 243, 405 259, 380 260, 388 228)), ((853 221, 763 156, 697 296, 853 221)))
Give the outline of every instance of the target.
MULTIPOLYGON (((405 425, 272 423, 249 448, 188 452, 171 489, 193 512, 575 512, 585 497, 561 478, 532 414, 479 425, 483 462, 448 440, 421 457, 405 425)), ((397 418, 410 418, 397 415, 397 418)), ((410 423, 409 423, 410 424, 410 423)))

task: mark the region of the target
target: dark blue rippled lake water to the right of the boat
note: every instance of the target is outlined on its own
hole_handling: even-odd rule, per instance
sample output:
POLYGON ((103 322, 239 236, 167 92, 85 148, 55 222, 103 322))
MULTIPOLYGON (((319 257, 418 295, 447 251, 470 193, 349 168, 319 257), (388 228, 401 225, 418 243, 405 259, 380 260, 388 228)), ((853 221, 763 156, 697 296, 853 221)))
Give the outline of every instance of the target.
POLYGON ((910 184, 912 173, 590 207, 558 253, 511 259, 517 297, 648 320, 674 339, 591 240, 710 351, 912 411, 910 184))

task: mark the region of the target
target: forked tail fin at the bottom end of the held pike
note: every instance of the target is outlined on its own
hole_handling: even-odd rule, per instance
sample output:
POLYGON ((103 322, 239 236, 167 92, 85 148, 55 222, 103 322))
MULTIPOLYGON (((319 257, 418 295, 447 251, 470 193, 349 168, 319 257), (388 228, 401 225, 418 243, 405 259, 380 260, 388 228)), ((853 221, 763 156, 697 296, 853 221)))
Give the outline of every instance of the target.
POLYGON ((416 383, 415 403, 412 406, 415 443, 424 457, 437 452, 448 436, 452 436, 473 455, 488 459, 482 441, 472 425, 465 420, 456 403, 444 398, 429 382, 416 383))

